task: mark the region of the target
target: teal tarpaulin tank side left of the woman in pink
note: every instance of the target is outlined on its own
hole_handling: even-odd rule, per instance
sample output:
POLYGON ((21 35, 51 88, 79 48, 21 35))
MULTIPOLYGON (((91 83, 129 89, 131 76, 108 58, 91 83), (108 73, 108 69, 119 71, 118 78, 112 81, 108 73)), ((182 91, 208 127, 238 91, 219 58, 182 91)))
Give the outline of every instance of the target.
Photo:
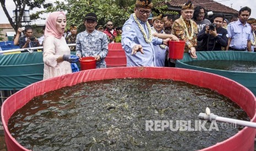
MULTIPOLYGON (((21 90, 42 80, 42 57, 42 52, 1 55, 0 90, 21 90)), ((77 64, 80 67, 79 62, 77 64)))

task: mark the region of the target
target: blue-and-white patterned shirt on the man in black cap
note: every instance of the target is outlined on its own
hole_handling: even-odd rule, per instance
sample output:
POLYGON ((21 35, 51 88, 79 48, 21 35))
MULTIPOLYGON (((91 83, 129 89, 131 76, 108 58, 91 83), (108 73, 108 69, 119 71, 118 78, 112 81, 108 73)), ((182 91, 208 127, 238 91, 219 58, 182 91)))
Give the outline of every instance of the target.
POLYGON ((77 55, 82 57, 100 55, 100 61, 96 62, 96 68, 106 68, 105 57, 108 53, 107 35, 103 32, 94 30, 92 33, 87 31, 77 35, 77 55))

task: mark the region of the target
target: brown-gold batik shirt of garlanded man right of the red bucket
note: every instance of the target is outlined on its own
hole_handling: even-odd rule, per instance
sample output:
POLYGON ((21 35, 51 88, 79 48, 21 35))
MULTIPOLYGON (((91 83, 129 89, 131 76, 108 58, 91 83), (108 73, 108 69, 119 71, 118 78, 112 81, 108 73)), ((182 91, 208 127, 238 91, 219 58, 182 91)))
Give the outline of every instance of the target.
POLYGON ((172 34, 174 34, 176 37, 186 42, 184 53, 188 53, 191 47, 197 47, 198 29, 197 29, 197 24, 194 21, 192 21, 192 25, 190 25, 190 22, 187 22, 187 21, 184 21, 184 22, 186 22, 185 25, 181 18, 175 20, 175 22, 173 22, 173 25, 172 25, 172 34), (193 35, 191 35, 192 26, 194 31, 193 35), (186 27, 188 28, 188 33, 189 33, 188 36, 193 36, 191 40, 187 38, 186 31, 185 31, 186 27))

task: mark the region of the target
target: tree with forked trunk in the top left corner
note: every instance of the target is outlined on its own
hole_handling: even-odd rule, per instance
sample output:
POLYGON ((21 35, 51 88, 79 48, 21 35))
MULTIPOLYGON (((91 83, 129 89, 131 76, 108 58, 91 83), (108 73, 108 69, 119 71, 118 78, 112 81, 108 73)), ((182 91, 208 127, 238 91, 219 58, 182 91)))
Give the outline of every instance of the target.
MULTIPOLYGON (((45 1, 46 0, 13 0, 15 4, 15 18, 13 21, 6 9, 6 0, 0 0, 4 14, 6 14, 10 25, 14 28, 15 31, 18 31, 18 28, 21 27, 21 19, 24 14, 25 7, 28 6, 29 9, 32 10, 34 8, 47 8, 52 5, 51 3, 46 3, 45 1)), ((39 14, 32 16, 32 20, 37 18, 39 18, 39 14)))

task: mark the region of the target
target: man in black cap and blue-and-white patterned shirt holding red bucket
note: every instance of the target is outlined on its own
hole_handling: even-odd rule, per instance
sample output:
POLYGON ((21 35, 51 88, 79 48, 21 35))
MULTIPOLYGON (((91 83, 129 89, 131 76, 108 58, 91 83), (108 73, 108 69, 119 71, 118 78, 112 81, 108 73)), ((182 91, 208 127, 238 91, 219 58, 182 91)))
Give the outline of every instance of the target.
POLYGON ((96 68, 106 68, 105 57, 108 53, 107 35, 95 30, 97 16, 95 13, 85 15, 86 30, 77 35, 77 56, 94 56, 97 60, 96 68))

